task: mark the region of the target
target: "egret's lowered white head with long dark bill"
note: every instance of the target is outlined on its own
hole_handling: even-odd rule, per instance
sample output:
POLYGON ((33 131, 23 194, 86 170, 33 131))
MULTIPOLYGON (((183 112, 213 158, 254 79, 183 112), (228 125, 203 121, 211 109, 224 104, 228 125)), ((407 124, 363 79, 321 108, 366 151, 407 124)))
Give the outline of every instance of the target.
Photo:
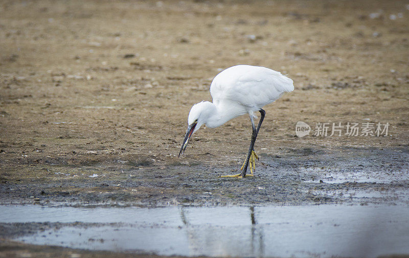
POLYGON ((190 137, 194 132, 199 130, 200 126, 206 123, 211 115, 213 104, 209 101, 202 101, 192 106, 188 117, 188 130, 186 131, 185 139, 180 147, 179 156, 183 156, 190 137))

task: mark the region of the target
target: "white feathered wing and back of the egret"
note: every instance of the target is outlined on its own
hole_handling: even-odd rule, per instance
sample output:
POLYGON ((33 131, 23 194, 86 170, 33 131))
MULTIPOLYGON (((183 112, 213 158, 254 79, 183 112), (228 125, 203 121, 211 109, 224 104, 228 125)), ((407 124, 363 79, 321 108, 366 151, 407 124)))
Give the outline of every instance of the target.
POLYGON ((226 99, 259 109, 293 90, 292 80, 280 72, 245 65, 220 72, 210 85, 210 94, 216 104, 226 99))

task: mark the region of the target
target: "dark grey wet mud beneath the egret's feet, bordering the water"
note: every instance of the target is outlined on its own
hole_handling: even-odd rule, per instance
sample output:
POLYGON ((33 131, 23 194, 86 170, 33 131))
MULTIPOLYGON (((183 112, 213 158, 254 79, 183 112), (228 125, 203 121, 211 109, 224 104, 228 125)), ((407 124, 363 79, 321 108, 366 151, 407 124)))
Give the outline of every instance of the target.
MULTIPOLYGON (((223 179, 239 165, 192 164, 81 167, 95 179, 73 180, 72 167, 58 181, 0 184, 2 204, 68 206, 303 205, 409 203, 407 148, 281 149, 259 153, 255 177, 223 179), (98 170, 93 170, 98 169, 98 170), (68 175, 68 176, 67 176, 68 175)), ((183 162, 186 162, 184 160, 183 162)))

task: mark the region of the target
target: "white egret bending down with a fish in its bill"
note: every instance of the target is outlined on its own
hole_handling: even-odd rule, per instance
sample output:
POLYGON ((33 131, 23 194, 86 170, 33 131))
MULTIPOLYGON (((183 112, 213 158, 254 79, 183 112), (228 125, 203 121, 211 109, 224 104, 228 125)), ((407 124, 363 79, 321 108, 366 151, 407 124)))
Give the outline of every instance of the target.
POLYGON ((276 101, 284 92, 292 92, 292 80, 280 72, 256 66, 239 65, 220 72, 210 85, 210 94, 213 103, 202 101, 194 104, 188 117, 188 130, 180 148, 182 156, 193 133, 205 124, 208 127, 218 127, 235 117, 248 114, 252 122, 253 133, 246 160, 241 166, 241 173, 222 177, 245 177, 247 166, 250 163, 251 175, 256 166, 257 154, 254 143, 263 122, 265 111, 262 107, 276 101), (254 112, 261 114, 257 127, 253 118, 254 112), (252 167, 253 166, 253 167, 252 167))

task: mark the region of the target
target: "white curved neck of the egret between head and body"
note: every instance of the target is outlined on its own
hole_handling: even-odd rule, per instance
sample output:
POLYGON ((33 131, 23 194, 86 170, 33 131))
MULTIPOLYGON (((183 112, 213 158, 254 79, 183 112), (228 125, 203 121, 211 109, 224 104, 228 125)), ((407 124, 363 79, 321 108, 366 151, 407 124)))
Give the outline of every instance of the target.
POLYGON ((223 101, 222 103, 212 103, 211 115, 205 121, 206 126, 219 127, 225 122, 235 117, 247 114, 248 112, 240 104, 233 101, 223 101))

